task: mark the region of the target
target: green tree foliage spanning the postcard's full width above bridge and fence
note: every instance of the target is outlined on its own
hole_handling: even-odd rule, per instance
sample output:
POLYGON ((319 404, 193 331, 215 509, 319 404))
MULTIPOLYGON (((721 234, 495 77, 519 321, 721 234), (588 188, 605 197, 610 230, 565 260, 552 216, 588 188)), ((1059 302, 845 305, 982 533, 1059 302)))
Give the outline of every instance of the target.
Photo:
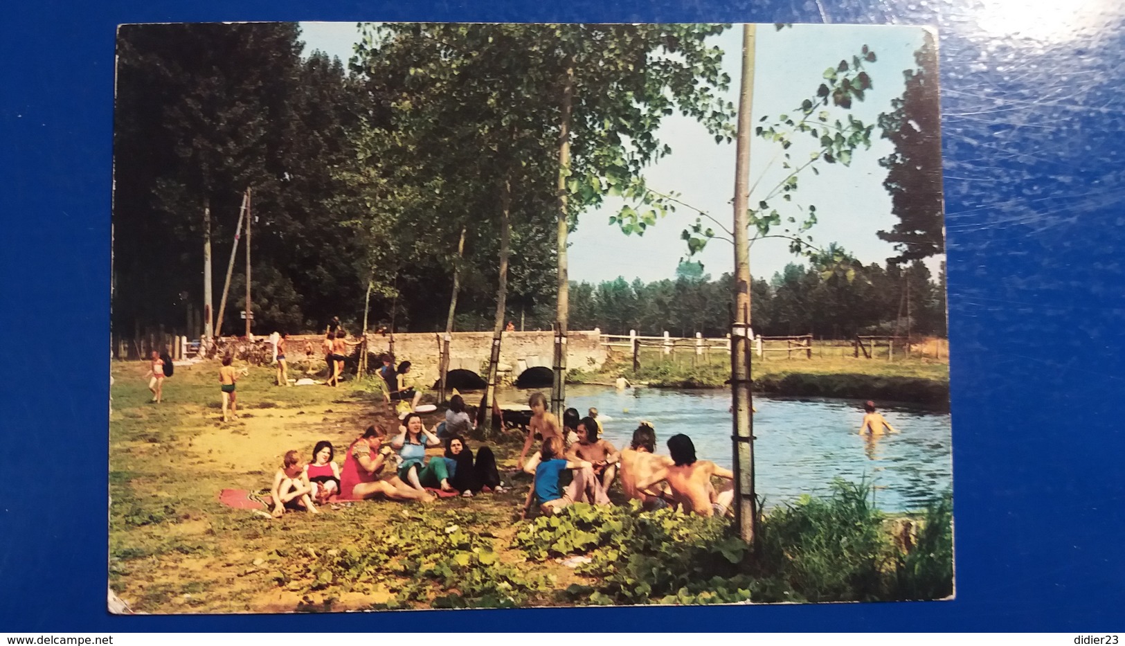
MULTIPOLYGON (((627 234, 676 208, 674 195, 641 177, 672 152, 654 134, 664 117, 682 113, 730 140, 734 107, 719 98, 729 84, 723 53, 708 42, 726 28, 367 25, 345 66, 321 52, 303 56, 296 24, 123 26, 115 333, 183 330, 192 315, 200 318, 202 241, 209 236, 217 293, 250 189, 252 309, 262 334, 323 330, 334 315, 353 330, 498 330, 505 320, 549 329, 569 316, 570 328, 724 334, 728 277, 685 268, 674 281, 644 286, 572 284, 566 236, 609 196, 628 201, 614 216, 627 234), (659 325, 657 303, 672 316, 659 325)), ((921 82, 930 78, 922 54, 914 75, 919 96, 936 91, 921 82)), ((861 66, 874 60, 864 46, 853 64, 842 61, 838 77, 826 74, 810 95, 825 92, 825 110, 807 99, 806 119, 794 125, 782 115, 758 136, 788 150, 780 134, 786 123, 827 132, 827 110, 846 113, 848 92, 862 99, 871 87, 861 66)), ((911 111, 924 99, 904 95, 881 119, 884 136, 928 128, 928 117, 911 111)), ((848 116, 837 128, 846 136, 821 135, 821 161, 847 163, 870 143, 871 128, 848 116)), ((892 192, 909 188, 907 170, 922 163, 903 154, 884 163, 899 171, 892 192)), ((795 179, 780 190, 784 201, 758 203, 753 222, 763 235, 781 231, 795 179)), ((811 225, 814 207, 804 213, 811 225)), ((893 232, 900 260, 940 251, 940 213, 911 218, 893 232)), ((804 228, 792 233, 800 241, 804 228)), ((711 235, 699 222, 684 232, 690 250, 711 235)), ((795 250, 810 253, 800 243, 795 250)), ((944 300, 920 263, 845 264, 810 258, 808 269, 794 264, 755 280, 755 329, 836 335, 884 324, 902 309, 904 275, 917 288, 917 329, 944 330, 944 300)), ((234 272, 216 332, 242 330, 243 281, 234 272)))

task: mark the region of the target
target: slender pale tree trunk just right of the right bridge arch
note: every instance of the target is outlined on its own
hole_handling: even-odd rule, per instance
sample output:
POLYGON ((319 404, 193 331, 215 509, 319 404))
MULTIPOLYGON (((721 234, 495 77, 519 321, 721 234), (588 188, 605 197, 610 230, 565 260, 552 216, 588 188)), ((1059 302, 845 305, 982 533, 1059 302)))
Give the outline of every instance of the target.
POLYGON ((570 110, 574 104, 574 62, 567 59, 562 79, 562 100, 559 117, 559 179, 558 179, 558 304, 555 311, 555 358, 551 383, 551 412, 562 416, 566 402, 566 326, 570 309, 570 282, 567 275, 567 233, 570 217, 567 214, 567 180, 570 178, 570 110))

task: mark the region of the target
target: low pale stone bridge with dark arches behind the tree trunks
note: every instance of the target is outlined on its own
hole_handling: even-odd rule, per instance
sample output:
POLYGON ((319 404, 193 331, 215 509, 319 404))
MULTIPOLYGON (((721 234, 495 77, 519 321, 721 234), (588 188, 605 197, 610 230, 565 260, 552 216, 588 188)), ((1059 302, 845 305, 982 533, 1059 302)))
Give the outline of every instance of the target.
MULTIPOLYGON (((449 385, 456 388, 483 388, 488 358, 492 352, 492 332, 453 332, 449 342, 449 385)), ((410 361, 411 375, 426 386, 438 382, 440 368, 441 332, 406 332, 395 334, 395 361, 410 361)), ((290 342, 322 337, 290 337, 290 342)), ((379 366, 376 356, 390 349, 390 337, 368 334, 371 368, 379 366)), ((298 347, 292 343, 292 347, 298 347)), ((501 340, 500 375, 502 384, 543 386, 551 383, 551 358, 555 332, 504 332, 501 340)), ((320 357, 320 346, 317 357, 320 357)), ((606 348, 600 330, 570 331, 567 333, 567 369, 593 370, 605 364, 606 348)))

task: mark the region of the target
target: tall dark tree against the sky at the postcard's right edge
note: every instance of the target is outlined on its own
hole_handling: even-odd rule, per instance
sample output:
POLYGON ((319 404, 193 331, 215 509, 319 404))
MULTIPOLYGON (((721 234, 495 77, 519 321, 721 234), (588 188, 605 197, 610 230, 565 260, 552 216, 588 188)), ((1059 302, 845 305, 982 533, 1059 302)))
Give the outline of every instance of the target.
POLYGON ((915 61, 918 68, 902 73, 902 98, 891 101, 892 111, 879 116, 883 138, 894 144, 894 152, 879 163, 888 170, 883 186, 899 217, 879 237, 894 243, 896 262, 945 253, 937 53, 929 32, 915 61))

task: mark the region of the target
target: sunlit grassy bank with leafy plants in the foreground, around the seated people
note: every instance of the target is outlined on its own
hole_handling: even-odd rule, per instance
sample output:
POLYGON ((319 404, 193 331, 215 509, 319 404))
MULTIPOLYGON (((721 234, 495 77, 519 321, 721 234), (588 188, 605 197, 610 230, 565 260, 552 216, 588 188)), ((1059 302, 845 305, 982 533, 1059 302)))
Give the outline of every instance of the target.
MULTIPOLYGON (((307 458, 321 439, 342 461, 381 419, 375 397, 354 385, 279 388, 251 368, 242 419, 224 424, 216 365, 177 368, 159 405, 145 369, 114 365, 110 415, 109 583, 137 611, 892 600, 952 585, 947 505, 907 530, 846 483, 771 511, 756 554, 722 519, 627 504, 522 521, 526 476, 498 495, 262 518, 220 505, 218 492, 267 487, 286 450, 307 458), (572 555, 591 562, 559 562, 572 555)), ((518 438, 490 446, 502 470, 515 466, 518 438)), ((623 502, 616 487, 611 497, 623 502)))

